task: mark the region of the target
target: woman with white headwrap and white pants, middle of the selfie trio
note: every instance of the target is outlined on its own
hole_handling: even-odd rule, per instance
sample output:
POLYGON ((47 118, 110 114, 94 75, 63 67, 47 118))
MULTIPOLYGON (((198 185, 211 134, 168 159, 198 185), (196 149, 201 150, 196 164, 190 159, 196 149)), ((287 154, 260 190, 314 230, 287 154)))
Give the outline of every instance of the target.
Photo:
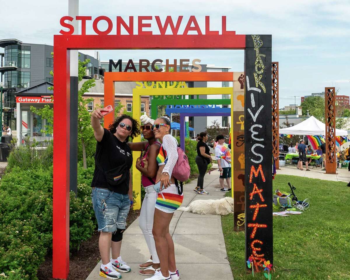
POLYGON ((157 199, 157 193, 153 186, 156 181, 156 175, 158 171, 157 155, 160 149, 160 142, 155 139, 154 133, 151 127, 154 120, 150 119, 146 115, 141 116, 141 133, 147 141, 132 143, 129 142, 132 151, 141 151, 141 156, 136 162, 136 168, 141 172, 142 186, 145 188, 145 198, 142 201, 139 226, 144 234, 149 254, 151 258, 144 264, 141 264, 139 268, 143 270, 139 271, 141 275, 154 275, 156 269, 159 269, 159 258, 155 248, 153 238, 153 217, 154 206, 157 199))

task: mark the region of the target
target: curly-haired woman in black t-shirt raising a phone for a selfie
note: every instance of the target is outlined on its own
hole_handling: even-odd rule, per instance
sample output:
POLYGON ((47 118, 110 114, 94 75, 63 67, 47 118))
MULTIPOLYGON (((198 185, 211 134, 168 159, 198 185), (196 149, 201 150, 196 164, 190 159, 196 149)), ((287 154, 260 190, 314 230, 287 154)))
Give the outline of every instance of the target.
POLYGON ((131 271, 120 257, 126 218, 133 204, 130 176, 132 154, 127 141, 129 137, 134 138, 139 134, 140 129, 138 121, 122 115, 107 130, 100 124, 100 119, 104 117, 101 111, 103 109, 99 108, 91 114, 91 125, 97 140, 91 197, 100 231, 102 265, 99 275, 119 279, 119 272, 131 271))

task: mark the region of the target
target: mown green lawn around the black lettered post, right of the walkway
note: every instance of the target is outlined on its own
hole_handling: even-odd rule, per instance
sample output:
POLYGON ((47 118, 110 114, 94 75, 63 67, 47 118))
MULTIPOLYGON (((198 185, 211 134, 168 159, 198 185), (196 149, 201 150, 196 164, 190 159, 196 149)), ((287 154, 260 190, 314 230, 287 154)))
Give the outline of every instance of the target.
MULTIPOLYGON (((276 175, 273 191, 290 190, 288 182, 299 200, 310 199, 310 207, 301 215, 273 217, 272 279, 350 279, 350 188, 345 182, 276 175)), ((221 221, 235 280, 254 279, 245 270, 244 231, 233 231, 232 214, 221 221)))

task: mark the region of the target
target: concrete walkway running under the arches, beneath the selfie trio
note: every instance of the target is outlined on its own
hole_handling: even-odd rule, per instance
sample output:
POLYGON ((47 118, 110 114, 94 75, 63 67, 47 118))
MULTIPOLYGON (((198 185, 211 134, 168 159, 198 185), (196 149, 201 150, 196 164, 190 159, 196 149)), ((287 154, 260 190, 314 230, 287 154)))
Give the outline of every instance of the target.
MULTIPOLYGON (((198 195, 193 191, 197 180, 185 184, 182 206, 187 206, 193 200, 224 197, 225 193, 220 191, 219 175, 217 170, 205 175, 204 188, 209 195, 198 195)), ((233 280, 230 264, 226 259, 221 216, 175 211, 169 230, 175 244, 180 279, 233 280)), ((131 272, 122 273, 122 279, 141 280, 148 277, 139 274, 139 264, 150 257, 145 238, 139 228, 139 218, 124 233, 121 256, 131 267, 131 272)), ((103 279, 99 276, 100 266, 99 262, 87 280, 103 279)))

